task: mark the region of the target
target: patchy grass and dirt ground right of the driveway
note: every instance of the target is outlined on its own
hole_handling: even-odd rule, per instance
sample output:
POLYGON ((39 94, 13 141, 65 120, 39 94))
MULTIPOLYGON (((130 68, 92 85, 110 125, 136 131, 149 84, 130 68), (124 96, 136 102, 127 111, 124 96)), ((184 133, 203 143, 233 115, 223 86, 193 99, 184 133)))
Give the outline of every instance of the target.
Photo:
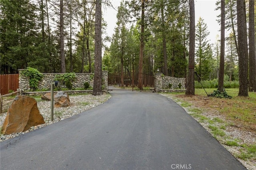
MULTIPOLYGON (((216 89, 206 89, 208 94, 216 89)), ((256 169, 256 93, 238 97, 238 89, 226 89, 232 99, 208 97, 203 89, 195 95, 162 93, 182 106, 247 169, 256 169)))

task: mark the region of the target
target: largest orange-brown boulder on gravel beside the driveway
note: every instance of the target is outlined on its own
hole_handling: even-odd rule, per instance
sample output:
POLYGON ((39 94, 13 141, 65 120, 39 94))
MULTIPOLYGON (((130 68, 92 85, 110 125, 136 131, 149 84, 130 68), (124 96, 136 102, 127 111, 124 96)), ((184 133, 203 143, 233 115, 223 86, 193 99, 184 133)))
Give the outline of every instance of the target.
POLYGON ((16 96, 10 105, 4 124, 2 134, 24 132, 32 126, 43 124, 44 118, 39 113, 36 100, 20 95, 16 96))

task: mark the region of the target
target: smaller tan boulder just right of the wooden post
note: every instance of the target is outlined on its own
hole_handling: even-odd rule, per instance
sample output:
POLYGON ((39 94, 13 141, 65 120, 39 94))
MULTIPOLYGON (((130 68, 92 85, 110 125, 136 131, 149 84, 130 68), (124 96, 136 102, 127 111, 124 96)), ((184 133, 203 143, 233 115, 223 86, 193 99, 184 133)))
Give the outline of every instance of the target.
POLYGON ((58 91, 54 96, 54 107, 68 107, 70 106, 70 100, 68 93, 58 91))

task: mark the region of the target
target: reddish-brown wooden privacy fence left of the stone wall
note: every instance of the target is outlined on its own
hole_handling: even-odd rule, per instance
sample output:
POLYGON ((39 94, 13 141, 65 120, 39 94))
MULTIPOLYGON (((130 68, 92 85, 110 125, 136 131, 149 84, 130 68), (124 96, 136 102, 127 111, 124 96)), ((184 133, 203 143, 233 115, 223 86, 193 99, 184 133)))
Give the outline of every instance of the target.
POLYGON ((17 91, 19 88, 19 74, 0 75, 0 93, 5 95, 9 90, 17 91))

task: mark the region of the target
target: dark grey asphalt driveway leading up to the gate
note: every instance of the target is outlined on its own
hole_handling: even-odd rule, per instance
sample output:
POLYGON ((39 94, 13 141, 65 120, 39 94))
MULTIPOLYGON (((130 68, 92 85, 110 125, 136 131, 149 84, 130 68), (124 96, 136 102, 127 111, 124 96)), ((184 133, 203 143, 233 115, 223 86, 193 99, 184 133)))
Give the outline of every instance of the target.
POLYGON ((1 142, 1 170, 245 169, 174 101, 112 93, 106 103, 1 142))

